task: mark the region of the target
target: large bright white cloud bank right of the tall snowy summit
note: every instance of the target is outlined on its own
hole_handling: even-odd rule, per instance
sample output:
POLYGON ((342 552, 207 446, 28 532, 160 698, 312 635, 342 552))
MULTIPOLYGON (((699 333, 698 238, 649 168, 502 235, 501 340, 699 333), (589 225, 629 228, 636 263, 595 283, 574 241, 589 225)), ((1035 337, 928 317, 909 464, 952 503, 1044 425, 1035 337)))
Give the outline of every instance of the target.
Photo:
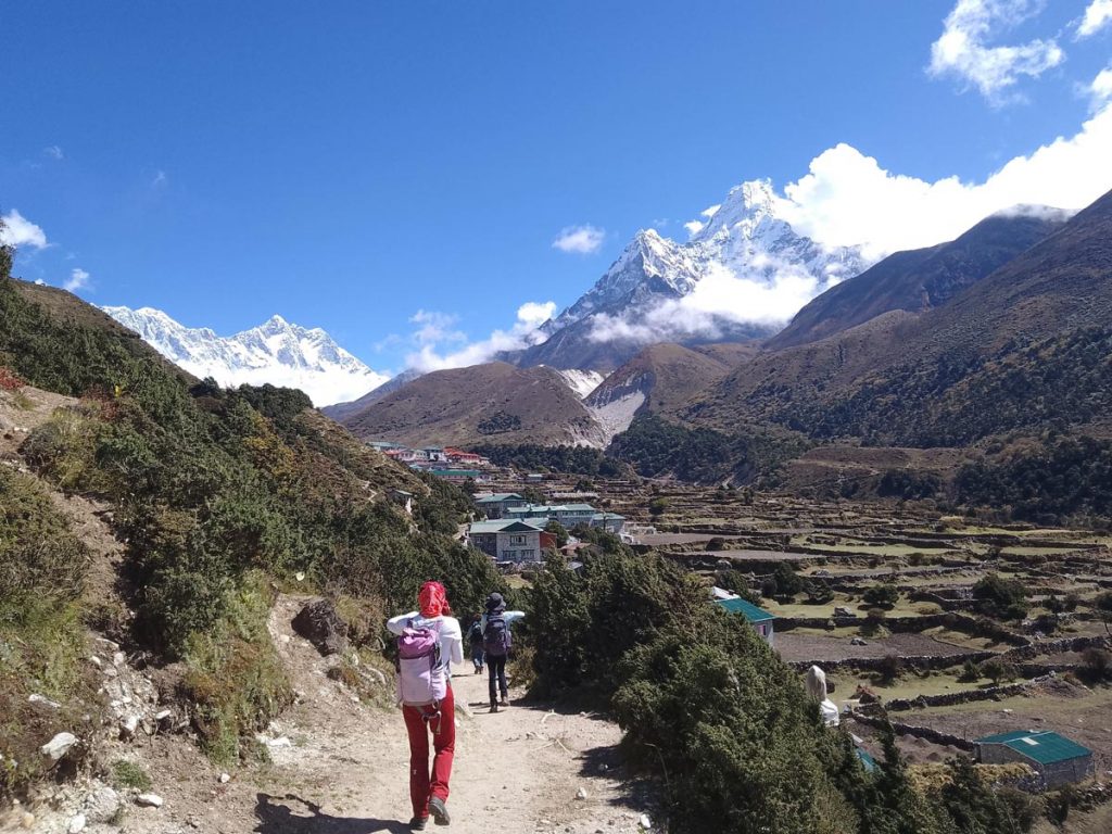
MULTIPOLYGON (((1106 78, 1098 76, 1103 89, 1106 78)), ((1072 137, 1015 157, 983 182, 933 182, 893 173, 848 145, 811 161, 785 189, 781 216, 827 246, 864 245, 873 257, 952 240, 983 218, 1016 205, 1076 210, 1112 188, 1112 101, 1072 137)))

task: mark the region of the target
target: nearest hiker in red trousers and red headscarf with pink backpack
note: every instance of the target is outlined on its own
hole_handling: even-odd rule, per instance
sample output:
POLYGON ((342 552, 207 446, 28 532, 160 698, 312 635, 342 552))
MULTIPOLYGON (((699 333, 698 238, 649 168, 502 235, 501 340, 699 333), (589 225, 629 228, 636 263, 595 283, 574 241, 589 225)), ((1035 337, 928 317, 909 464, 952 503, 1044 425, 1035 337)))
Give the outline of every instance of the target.
POLYGON ((456 752, 451 664, 464 662, 464 639, 444 585, 425 583, 417 602, 419 610, 391 617, 386 627, 398 636, 398 703, 409 735, 409 798, 414 810, 409 828, 424 831, 429 816, 437 825, 450 822, 448 780, 456 752))

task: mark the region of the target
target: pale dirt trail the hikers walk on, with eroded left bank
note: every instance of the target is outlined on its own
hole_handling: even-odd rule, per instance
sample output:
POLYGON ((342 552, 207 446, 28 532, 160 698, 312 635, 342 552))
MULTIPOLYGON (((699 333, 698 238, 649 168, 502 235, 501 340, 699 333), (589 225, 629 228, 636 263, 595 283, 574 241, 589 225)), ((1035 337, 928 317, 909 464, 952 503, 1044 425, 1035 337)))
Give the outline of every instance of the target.
MULTIPOLYGON (((275 732, 291 739, 271 746, 277 782, 294 790, 260 794, 261 834, 374 834, 408 831, 408 746, 397 711, 354 703, 350 691, 324 676, 328 665, 289 620, 297 600, 282 599, 271 617, 276 645, 289 664, 301 703, 275 732)), ((538 706, 488 712, 486 676, 456 669, 456 758, 445 831, 637 831, 638 807, 620 781, 614 745, 620 733, 590 715, 538 706), (586 800, 577 800, 579 788, 586 800)), ((513 696, 512 696, 513 697, 513 696)), ((440 830, 429 824, 429 830, 440 830)))

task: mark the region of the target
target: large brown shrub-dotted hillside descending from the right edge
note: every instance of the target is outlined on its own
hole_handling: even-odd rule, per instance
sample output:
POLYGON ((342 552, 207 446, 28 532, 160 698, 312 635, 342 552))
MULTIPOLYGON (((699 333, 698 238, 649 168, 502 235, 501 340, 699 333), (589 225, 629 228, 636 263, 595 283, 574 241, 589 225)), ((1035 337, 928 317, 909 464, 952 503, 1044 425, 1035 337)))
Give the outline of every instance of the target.
MULTIPOLYGON (((1049 419, 1095 419, 1112 397, 1112 195, 920 315, 886 312, 738 366, 685 415, 772 420, 816 437, 960 445, 1049 419)), ((1106 410, 1106 409, 1105 409, 1106 410)))

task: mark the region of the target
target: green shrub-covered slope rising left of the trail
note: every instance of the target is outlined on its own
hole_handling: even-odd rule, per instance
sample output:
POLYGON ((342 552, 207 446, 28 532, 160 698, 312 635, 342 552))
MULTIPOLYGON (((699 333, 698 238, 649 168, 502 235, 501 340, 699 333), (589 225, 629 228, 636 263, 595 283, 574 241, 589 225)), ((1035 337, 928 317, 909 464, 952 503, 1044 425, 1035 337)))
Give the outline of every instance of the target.
MULTIPOLYGON (((22 441, 33 475, 0 484, 2 517, 18 528, 0 547, 0 641, 31 646, 14 671, 0 657, 0 703, 19 701, 19 687, 43 676, 58 681, 60 696, 73 689, 66 682, 77 649, 42 655, 34 635, 64 632, 63 645, 76 646, 80 623, 96 620, 155 663, 176 662, 167 674, 190 702, 203 745, 230 759, 291 697, 266 631, 276 587, 300 577, 302 587, 380 618, 408 607, 429 576, 445 578, 461 609, 499 586, 489 562, 453 537, 467 506, 461 492, 367 448, 299 391, 192 379, 73 296, 12 279, 10 266, 4 249, 0 367, 16 385, 79 399, 22 441), (416 496, 411 517, 391 500, 396 488, 416 496), (119 609, 81 603, 79 543, 40 513, 50 490, 111 508, 126 543, 119 609), (26 506, 51 530, 48 540, 77 555, 58 577, 43 574, 41 548, 28 544, 42 534, 19 520, 26 506), (38 590, 43 584, 53 596, 38 590), (54 619, 44 622, 41 604, 56 597, 54 619)), ((0 723, 0 748, 19 749, 29 729, 0 723)), ((33 774, 4 778, 0 790, 19 792, 33 774)))

